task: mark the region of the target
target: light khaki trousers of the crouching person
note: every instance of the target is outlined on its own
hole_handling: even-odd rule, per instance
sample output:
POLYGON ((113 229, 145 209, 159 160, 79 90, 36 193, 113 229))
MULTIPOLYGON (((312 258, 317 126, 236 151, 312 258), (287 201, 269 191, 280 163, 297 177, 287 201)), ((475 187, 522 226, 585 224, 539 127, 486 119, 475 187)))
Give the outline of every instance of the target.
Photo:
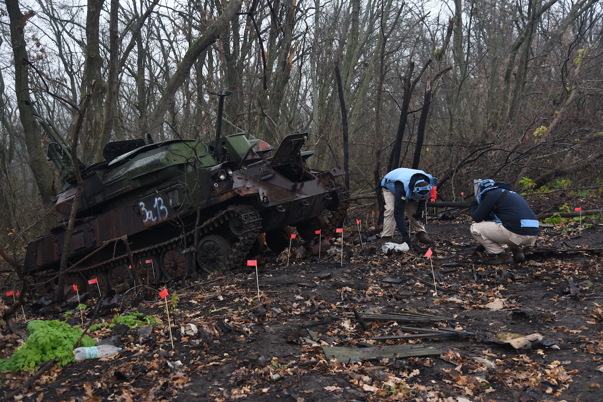
POLYGON ((536 237, 538 237, 513 233, 501 223, 493 221, 476 222, 471 225, 470 230, 473 237, 482 243, 490 254, 504 253, 505 249, 502 244, 506 244, 511 248, 525 245, 532 246, 536 242, 536 237))

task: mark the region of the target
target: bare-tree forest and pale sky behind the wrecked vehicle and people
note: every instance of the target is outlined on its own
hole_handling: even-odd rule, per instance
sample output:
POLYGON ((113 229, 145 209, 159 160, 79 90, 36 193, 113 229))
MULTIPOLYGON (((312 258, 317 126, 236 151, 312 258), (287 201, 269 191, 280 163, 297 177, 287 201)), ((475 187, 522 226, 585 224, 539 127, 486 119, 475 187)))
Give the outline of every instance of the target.
MULTIPOLYGON (((599 187, 603 4, 596 0, 5 0, 0 3, 0 241, 53 223, 60 186, 27 102, 80 159, 109 141, 308 131, 312 167, 356 197, 399 166, 461 201, 472 180, 599 187), (89 94, 87 96, 86 94, 89 94)), ((18 258, 17 258, 18 260, 18 258)))

